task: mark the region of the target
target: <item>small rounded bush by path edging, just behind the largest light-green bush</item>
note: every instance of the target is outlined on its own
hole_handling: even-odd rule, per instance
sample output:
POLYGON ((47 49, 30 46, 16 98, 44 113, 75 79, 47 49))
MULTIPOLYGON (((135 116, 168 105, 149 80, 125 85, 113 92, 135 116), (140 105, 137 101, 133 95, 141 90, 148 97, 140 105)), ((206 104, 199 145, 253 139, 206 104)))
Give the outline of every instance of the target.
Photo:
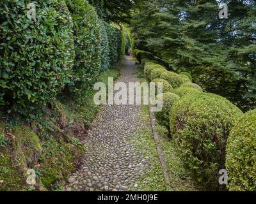
POLYGON ((157 97, 159 96, 163 96, 163 108, 160 112, 156 112, 155 115, 159 124, 169 129, 170 111, 173 104, 179 100, 179 96, 170 92, 159 94, 157 97))

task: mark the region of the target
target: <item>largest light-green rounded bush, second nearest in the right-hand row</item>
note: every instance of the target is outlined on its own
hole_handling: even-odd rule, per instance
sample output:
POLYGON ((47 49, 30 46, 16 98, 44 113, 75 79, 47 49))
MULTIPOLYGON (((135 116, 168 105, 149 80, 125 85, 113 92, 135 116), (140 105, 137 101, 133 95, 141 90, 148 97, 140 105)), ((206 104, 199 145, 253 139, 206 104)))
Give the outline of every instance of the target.
POLYGON ((194 92, 175 103, 170 129, 177 152, 195 185, 201 190, 222 190, 219 170, 225 168, 227 137, 243 112, 216 94, 194 92))

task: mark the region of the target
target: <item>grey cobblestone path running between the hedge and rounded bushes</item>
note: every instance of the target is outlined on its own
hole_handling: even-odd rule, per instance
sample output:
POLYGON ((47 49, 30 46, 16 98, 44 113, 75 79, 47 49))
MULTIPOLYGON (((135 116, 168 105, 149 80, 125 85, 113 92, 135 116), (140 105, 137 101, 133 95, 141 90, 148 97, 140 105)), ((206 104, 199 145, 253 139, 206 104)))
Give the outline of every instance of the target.
MULTIPOLYGON (((120 77, 116 82, 137 82, 136 65, 132 57, 125 56, 120 64, 120 77)), ((136 190, 136 179, 145 174, 148 157, 131 142, 145 124, 140 119, 143 106, 101 106, 92 128, 86 136, 86 154, 81 170, 68 179, 75 191, 127 191, 136 190)))

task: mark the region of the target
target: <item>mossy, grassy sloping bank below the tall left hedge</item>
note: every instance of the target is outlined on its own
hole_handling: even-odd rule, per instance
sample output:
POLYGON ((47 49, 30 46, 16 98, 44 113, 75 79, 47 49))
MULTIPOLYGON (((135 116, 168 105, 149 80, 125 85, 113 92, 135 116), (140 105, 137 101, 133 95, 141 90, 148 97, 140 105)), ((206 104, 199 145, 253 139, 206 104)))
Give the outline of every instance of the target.
MULTIPOLYGON (((119 76, 113 68, 99 76, 119 76)), ((76 170, 83 157, 82 140, 99 106, 94 92, 83 98, 59 98, 44 115, 31 124, 22 120, 0 120, 0 191, 63 191, 68 173, 76 170), (15 121, 15 122, 13 122, 15 121), (17 122, 19 121, 19 122, 17 122), (36 186, 26 184, 26 170, 36 171, 36 186)))

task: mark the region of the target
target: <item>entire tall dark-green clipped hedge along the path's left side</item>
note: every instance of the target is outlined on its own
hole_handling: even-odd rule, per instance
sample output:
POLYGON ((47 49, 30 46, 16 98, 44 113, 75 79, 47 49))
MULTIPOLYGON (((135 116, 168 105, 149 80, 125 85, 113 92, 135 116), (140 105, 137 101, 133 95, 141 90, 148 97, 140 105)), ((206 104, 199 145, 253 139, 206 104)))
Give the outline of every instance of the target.
POLYGON ((120 26, 99 19, 86 0, 0 3, 0 105, 8 112, 31 113, 54 101, 63 89, 92 89, 100 71, 122 59, 120 26))

